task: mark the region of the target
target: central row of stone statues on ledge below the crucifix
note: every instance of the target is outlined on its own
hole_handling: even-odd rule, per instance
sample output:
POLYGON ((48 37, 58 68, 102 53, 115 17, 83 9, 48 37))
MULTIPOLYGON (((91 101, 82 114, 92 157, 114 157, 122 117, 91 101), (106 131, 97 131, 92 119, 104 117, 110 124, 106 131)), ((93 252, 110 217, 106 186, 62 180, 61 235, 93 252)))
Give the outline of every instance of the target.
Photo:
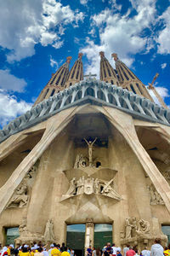
POLYGON ((76 179, 73 177, 71 179, 70 188, 66 192, 66 195, 81 195, 81 194, 100 194, 100 195, 107 195, 110 197, 119 197, 114 189, 114 180, 113 178, 111 181, 106 182, 103 180, 99 180, 99 178, 94 177, 80 177, 76 179), (112 185, 111 185, 112 184, 112 185))

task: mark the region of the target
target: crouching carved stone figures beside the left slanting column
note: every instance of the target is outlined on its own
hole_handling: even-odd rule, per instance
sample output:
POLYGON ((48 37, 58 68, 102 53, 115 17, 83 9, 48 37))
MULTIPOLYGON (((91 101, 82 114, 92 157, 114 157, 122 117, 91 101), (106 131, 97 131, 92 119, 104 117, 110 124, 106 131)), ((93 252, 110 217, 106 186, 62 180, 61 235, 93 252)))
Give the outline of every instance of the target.
POLYGON ((28 201, 27 192, 28 188, 26 183, 21 184, 9 201, 8 207, 25 207, 28 201))

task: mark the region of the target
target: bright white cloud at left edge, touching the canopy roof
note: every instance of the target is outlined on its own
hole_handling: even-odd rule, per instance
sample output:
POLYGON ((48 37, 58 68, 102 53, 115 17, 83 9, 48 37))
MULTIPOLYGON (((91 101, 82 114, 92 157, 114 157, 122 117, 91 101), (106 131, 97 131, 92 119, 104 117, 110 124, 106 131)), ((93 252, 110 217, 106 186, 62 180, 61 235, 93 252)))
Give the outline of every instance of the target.
POLYGON ((0 90, 0 125, 6 125, 20 114, 26 113, 31 105, 31 103, 25 101, 18 102, 15 96, 8 95, 4 90, 0 90))

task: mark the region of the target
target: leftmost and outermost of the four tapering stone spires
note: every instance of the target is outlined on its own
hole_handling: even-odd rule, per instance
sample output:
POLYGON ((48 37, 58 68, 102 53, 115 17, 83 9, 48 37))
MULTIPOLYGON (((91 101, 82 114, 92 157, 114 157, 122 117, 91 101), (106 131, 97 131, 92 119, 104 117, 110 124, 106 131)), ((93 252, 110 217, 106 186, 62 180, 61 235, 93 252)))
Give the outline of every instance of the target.
POLYGON ((48 99, 48 97, 54 96, 54 94, 60 90, 65 89, 65 83, 68 79, 69 64, 71 62, 71 58, 71 56, 68 56, 65 63, 59 67, 56 73, 52 74, 48 84, 43 88, 40 95, 37 97, 37 101, 34 103, 34 106, 37 103, 42 102, 44 99, 48 99))

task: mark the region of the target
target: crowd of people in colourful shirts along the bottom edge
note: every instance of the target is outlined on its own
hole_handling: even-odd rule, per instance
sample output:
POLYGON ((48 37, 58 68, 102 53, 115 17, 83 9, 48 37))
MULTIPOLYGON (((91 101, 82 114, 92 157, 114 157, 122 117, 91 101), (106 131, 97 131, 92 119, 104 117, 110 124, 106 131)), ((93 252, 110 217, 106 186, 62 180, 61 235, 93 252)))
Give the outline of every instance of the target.
MULTIPOLYGON (((34 242, 31 247, 26 244, 14 247, 13 244, 10 244, 0 250, 0 256, 76 256, 76 254, 73 249, 65 247, 65 243, 62 243, 61 247, 59 244, 53 243, 48 248, 48 245, 43 246, 41 242, 38 244, 34 242)), ((137 247, 126 245, 121 248, 116 247, 115 243, 111 246, 111 243, 108 242, 102 250, 89 246, 85 256, 170 256, 170 244, 163 248, 161 239, 156 238, 150 250, 144 247, 139 252, 137 247)))

